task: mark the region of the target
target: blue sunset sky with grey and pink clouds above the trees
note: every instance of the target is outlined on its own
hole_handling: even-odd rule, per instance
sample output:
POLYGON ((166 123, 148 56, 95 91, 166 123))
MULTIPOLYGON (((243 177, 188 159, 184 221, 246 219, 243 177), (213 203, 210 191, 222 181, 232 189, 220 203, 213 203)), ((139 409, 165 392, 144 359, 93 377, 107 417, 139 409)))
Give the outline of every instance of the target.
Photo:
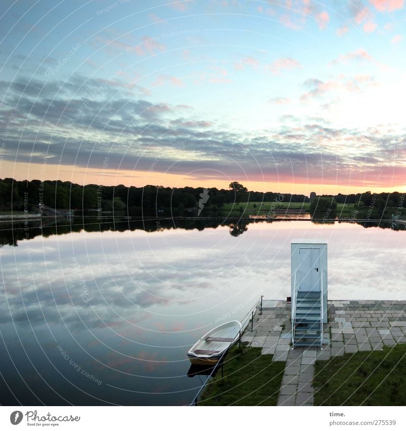
POLYGON ((403 0, 0 4, 0 178, 406 191, 403 0))

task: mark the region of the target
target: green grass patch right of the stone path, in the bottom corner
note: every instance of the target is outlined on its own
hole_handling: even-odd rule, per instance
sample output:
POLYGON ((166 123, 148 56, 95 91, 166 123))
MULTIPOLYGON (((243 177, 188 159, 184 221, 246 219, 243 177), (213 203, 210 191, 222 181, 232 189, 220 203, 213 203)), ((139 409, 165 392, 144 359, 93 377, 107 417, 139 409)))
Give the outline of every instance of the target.
POLYGON ((315 406, 406 406, 406 344, 316 361, 315 406))

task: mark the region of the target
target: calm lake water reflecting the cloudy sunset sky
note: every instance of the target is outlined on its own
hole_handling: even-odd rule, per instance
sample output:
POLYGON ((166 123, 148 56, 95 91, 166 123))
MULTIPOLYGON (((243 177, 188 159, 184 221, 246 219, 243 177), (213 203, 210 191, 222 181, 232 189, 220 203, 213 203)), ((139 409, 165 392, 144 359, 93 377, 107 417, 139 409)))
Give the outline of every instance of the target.
POLYGON ((329 241, 329 299, 406 299, 404 229, 137 223, 63 235, 33 226, 27 236, 3 226, 0 404, 190 403, 202 377, 187 377, 186 351, 261 294, 290 295, 293 238, 329 241))

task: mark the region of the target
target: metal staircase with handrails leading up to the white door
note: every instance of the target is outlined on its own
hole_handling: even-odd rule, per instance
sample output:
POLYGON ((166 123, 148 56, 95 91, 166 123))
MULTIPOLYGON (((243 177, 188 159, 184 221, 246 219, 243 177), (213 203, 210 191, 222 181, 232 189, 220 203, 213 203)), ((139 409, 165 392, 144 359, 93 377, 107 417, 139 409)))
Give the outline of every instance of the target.
POLYGON ((322 292, 298 291, 296 278, 295 274, 295 289, 292 298, 292 346, 322 346, 322 292))

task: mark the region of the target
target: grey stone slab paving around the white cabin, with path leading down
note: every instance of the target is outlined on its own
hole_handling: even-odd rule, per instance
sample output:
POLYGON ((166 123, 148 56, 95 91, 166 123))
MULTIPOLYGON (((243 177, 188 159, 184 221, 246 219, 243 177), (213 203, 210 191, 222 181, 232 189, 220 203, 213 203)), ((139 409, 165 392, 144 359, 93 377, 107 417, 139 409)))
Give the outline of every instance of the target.
POLYGON ((265 301, 242 337, 274 361, 286 361, 278 406, 313 406, 314 363, 406 342, 406 301, 329 301, 323 348, 291 347, 290 304, 265 301), (251 327, 249 327, 251 329, 251 327))

